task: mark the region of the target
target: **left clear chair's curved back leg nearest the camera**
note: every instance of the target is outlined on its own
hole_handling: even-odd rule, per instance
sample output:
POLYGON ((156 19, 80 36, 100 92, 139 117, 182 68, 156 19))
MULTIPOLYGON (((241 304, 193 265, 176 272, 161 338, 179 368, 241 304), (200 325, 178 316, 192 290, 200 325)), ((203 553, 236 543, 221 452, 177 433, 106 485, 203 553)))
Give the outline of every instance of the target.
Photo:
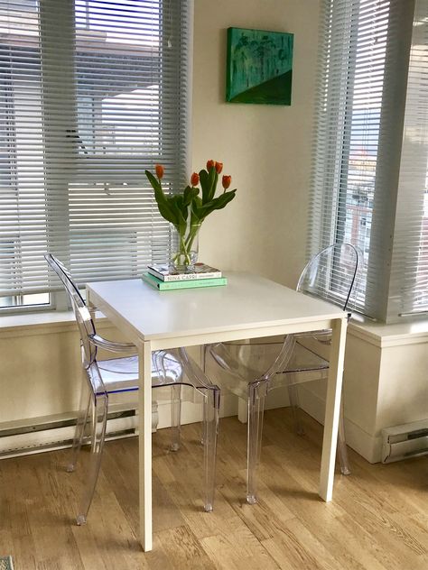
POLYGON ((106 440, 107 403, 107 394, 102 394, 95 397, 93 406, 94 430, 92 433, 92 447, 89 459, 88 481, 79 505, 79 514, 77 516, 78 525, 85 524, 87 521, 88 510, 90 508, 90 504, 95 492, 95 487, 98 481, 99 468, 101 466, 101 457, 106 440))

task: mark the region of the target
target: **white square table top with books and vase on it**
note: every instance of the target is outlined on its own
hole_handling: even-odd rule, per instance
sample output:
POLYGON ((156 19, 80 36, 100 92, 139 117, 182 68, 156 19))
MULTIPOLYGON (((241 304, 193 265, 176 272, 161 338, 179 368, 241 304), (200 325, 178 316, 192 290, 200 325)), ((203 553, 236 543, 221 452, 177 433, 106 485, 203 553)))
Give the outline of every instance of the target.
MULTIPOLYGON (((141 279, 88 283, 89 301, 143 340, 326 321, 344 311, 284 285, 227 272, 228 285, 159 291, 141 279)), ((316 328, 316 327, 315 327, 316 328)))

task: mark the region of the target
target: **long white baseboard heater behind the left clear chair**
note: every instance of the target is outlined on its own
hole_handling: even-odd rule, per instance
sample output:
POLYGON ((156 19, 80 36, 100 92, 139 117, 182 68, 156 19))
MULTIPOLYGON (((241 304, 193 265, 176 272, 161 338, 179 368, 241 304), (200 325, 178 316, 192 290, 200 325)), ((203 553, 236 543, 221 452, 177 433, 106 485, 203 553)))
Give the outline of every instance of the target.
MULTIPOLYGON (((153 431, 156 431, 157 422, 157 406, 154 402, 153 431)), ((31 426, 0 428, 0 459, 70 447, 75 426, 75 418, 55 418, 51 421, 46 421, 45 418, 40 423, 34 421, 31 426)), ((107 440, 131 437, 137 433, 138 415, 135 409, 112 411, 108 414, 107 440)))

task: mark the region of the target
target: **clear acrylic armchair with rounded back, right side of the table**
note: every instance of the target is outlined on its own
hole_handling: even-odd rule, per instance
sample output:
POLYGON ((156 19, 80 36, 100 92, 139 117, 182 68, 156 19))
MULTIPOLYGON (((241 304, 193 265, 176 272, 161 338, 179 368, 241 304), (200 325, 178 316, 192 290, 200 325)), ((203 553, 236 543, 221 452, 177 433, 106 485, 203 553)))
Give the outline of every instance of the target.
MULTIPOLYGON (((361 254, 354 245, 332 244, 306 265, 297 290, 349 310, 357 290, 360 259, 361 254)), ((256 502, 265 396, 279 386, 288 387, 293 418, 298 433, 302 434, 297 387, 302 382, 327 378, 329 362, 318 354, 316 345, 328 346, 330 341, 331 330, 323 330, 280 339, 252 339, 206 347, 206 365, 209 365, 210 355, 224 371, 216 374, 221 389, 247 400, 247 501, 251 504, 256 502)), ((342 413, 338 439, 340 470, 348 474, 342 413)))

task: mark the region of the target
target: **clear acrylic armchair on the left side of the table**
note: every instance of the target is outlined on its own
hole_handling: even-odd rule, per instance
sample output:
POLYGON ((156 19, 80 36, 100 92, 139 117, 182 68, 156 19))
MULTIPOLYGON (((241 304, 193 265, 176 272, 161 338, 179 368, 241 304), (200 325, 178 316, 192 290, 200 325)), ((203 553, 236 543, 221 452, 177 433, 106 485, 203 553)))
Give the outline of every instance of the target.
MULTIPOLYGON (((81 525, 87 521, 88 510, 98 480, 106 439, 108 402, 115 394, 138 390, 138 360, 136 355, 131 354, 135 352, 135 345, 109 341, 97 334, 93 319, 77 286, 71 279, 70 272, 51 253, 47 253, 45 259, 67 290, 79 326, 84 379, 67 471, 74 471, 76 467, 79 450, 89 423, 91 451, 88 478, 77 516, 77 523, 81 525), (110 360, 98 360, 98 349, 122 355, 110 360)), ((204 509, 211 511, 214 504, 219 388, 209 382, 204 372, 183 348, 154 351, 152 354, 152 387, 171 387, 172 451, 180 447, 181 386, 183 385, 191 386, 202 397, 204 509)))

